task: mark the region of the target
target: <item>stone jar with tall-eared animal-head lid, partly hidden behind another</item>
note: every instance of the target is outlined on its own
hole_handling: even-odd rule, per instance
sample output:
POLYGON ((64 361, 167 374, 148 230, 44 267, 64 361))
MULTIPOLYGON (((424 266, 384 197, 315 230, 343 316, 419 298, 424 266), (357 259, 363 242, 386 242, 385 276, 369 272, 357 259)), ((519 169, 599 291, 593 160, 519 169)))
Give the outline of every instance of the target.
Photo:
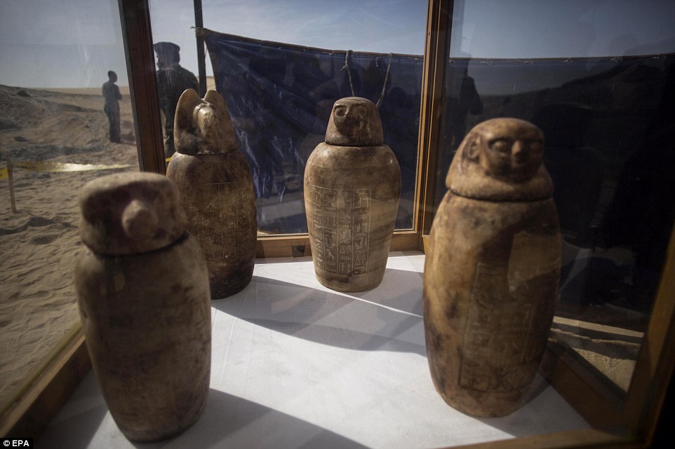
POLYGON ((183 92, 174 134, 176 153, 166 176, 178 185, 187 229, 206 256, 211 298, 225 298, 253 276, 257 224, 250 167, 215 90, 203 99, 192 89, 183 92))

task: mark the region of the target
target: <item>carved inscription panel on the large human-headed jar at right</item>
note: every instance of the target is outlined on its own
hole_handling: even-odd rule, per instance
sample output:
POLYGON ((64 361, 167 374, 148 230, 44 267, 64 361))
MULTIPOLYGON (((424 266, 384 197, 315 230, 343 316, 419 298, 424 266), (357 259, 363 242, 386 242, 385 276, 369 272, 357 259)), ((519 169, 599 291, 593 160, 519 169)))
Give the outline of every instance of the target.
POLYGON ((515 286, 506 266, 477 265, 460 364, 462 387, 509 392, 530 381, 527 366, 538 361, 546 344, 547 296, 557 282, 552 265, 533 270, 542 268, 548 272, 515 286))

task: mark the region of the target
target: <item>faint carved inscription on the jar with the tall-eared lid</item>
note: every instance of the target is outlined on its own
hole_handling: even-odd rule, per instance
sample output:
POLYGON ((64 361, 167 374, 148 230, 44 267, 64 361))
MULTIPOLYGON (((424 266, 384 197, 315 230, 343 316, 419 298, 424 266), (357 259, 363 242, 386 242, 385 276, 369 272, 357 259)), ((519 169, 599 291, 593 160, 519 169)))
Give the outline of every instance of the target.
POLYGON ((255 229, 247 205, 248 184, 199 184, 187 207, 190 230, 197 237, 206 261, 222 262, 248 254, 255 245, 255 229))

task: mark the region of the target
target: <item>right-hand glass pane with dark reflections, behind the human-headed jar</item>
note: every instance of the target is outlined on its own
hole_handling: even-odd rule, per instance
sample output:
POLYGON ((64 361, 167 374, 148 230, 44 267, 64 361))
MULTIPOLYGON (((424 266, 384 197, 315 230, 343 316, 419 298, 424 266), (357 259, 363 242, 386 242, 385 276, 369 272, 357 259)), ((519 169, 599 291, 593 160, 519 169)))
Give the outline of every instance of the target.
POLYGON ((455 1, 436 200, 472 127, 546 136, 563 230, 554 336, 625 390, 675 217, 675 4, 455 1))

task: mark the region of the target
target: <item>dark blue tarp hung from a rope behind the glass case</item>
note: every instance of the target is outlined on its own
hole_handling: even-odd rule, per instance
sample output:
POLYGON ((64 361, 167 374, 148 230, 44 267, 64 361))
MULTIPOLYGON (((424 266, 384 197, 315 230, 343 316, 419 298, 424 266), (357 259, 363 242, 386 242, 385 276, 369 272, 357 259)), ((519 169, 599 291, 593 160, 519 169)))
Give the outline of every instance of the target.
MULTIPOLYGON (((403 178, 396 228, 412 226, 422 56, 199 33, 253 172, 263 232, 307 232, 298 206, 305 162, 323 141, 335 100, 354 95, 378 105, 385 143, 403 178), (274 209, 274 200, 283 201, 282 212, 265 212, 274 209)), ((610 279, 608 285, 621 287, 619 296, 648 308, 675 220, 675 55, 457 58, 448 60, 443 82, 434 206, 446 192, 455 150, 473 125, 500 116, 529 120, 546 136, 544 160, 566 241, 634 254, 629 291, 619 268, 603 268, 591 276, 599 283, 584 287, 590 301, 614 288, 602 284, 610 279)), ((563 301, 580 301, 573 296, 563 295, 563 301)))

